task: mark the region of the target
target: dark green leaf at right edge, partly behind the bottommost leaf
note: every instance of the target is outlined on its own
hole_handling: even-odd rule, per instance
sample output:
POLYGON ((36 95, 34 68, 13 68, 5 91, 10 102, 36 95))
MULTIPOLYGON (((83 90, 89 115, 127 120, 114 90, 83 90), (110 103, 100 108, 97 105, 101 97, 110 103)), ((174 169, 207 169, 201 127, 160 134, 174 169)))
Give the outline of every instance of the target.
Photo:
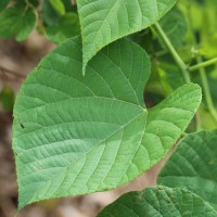
POLYGON ((184 138, 159 174, 158 183, 188 189, 217 208, 217 130, 184 138))

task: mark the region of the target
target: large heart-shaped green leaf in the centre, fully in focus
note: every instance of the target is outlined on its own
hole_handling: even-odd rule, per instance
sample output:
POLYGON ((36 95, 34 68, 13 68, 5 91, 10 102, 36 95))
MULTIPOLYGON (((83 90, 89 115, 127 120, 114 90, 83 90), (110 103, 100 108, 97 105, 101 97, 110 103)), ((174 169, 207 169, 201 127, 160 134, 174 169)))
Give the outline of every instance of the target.
POLYGON ((129 40, 99 52, 85 77, 81 68, 81 40, 74 38, 44 58, 18 93, 13 150, 20 208, 135 179, 168 152, 201 102, 200 87, 190 84, 148 112, 150 60, 129 40))

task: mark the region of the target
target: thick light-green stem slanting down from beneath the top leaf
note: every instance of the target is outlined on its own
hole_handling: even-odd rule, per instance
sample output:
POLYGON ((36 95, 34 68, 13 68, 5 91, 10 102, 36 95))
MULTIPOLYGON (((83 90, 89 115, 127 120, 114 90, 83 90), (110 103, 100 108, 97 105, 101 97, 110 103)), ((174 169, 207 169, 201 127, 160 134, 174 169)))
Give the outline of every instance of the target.
POLYGON ((184 78, 187 84, 191 82, 191 78, 189 76, 189 72, 187 69, 187 66, 186 66, 184 62, 179 56, 179 54, 175 50, 174 46, 171 44, 170 40, 168 39, 168 37, 166 36, 166 34, 164 33, 164 30, 162 29, 162 27, 161 27, 161 25, 158 23, 155 24, 155 29, 156 29, 159 38, 165 43, 167 50, 171 53, 174 60, 176 61, 179 69, 181 71, 181 73, 183 75, 183 78, 184 78))

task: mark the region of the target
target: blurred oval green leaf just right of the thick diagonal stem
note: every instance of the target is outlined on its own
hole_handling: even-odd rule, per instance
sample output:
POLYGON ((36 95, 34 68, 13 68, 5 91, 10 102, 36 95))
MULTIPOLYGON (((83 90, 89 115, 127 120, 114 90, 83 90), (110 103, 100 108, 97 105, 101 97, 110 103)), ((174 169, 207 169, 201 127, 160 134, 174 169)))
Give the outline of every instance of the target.
POLYGON ((187 21, 183 14, 173 9, 161 21, 159 24, 174 47, 180 47, 187 34, 187 21))

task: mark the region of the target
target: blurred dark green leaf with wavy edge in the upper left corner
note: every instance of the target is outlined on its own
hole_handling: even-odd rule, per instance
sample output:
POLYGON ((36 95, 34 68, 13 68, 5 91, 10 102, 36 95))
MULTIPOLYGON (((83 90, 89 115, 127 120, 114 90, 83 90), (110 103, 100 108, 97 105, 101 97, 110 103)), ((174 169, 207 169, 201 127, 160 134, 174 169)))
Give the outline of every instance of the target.
POLYGON ((17 41, 27 38, 36 25, 36 15, 31 9, 13 7, 0 13, 0 37, 9 39, 15 36, 17 41))

